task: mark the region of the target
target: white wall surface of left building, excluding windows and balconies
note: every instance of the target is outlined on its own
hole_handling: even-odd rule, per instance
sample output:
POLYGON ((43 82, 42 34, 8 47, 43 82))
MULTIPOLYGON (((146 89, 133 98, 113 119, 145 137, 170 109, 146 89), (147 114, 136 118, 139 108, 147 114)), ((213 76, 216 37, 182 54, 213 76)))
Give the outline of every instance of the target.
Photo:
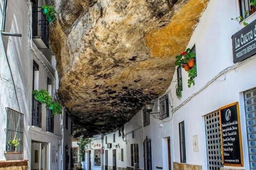
MULTIPOLYGON (((40 3, 39 5, 41 6, 40 3)), ((0 25, 2 26, 4 1, 0 2, 0 8, 0 25)), ((38 169, 40 166, 44 170, 64 169, 64 145, 69 147, 69 155, 72 147, 70 117, 68 117, 69 132, 66 132, 67 130, 63 128, 65 126, 63 119, 66 119, 64 113, 54 116, 54 129, 53 132, 50 132, 47 130, 47 111, 45 106, 42 105, 41 127, 32 125, 33 87, 37 90, 48 90, 54 98, 55 89, 58 89, 58 84, 56 84, 58 74, 55 69, 56 60, 49 52, 50 50, 39 49, 32 41, 31 12, 30 1, 8 0, 5 32, 19 33, 22 34, 22 37, 1 35, 0 39, 0 111, 2 113, 0 116, 0 132, 2 134, 0 137, 0 143, 2 144, 0 147, 0 161, 27 160, 29 170, 38 169), (39 68, 36 72, 33 71, 34 62, 38 64, 39 68), (47 83, 47 78, 52 81, 51 85, 47 83), (22 152, 6 151, 6 142, 8 142, 6 141, 6 108, 24 114, 22 152), (43 145, 46 145, 46 147, 40 147, 43 145), (37 155, 35 153, 39 157, 35 156, 37 155), (41 160, 40 156, 42 157, 41 160), (39 166, 40 161, 46 161, 46 163, 39 166)), ((22 139, 19 140, 22 141, 22 139)), ((70 163, 68 169, 70 169, 70 163)))

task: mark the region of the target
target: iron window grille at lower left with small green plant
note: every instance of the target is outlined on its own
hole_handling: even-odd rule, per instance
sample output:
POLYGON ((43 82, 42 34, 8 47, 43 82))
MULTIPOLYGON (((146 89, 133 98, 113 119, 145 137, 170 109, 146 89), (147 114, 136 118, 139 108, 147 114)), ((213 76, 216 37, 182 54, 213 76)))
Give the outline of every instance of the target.
POLYGON ((23 152, 23 122, 24 115, 18 111, 6 108, 6 152, 23 152), (18 140, 18 146, 14 146, 11 142, 18 140))

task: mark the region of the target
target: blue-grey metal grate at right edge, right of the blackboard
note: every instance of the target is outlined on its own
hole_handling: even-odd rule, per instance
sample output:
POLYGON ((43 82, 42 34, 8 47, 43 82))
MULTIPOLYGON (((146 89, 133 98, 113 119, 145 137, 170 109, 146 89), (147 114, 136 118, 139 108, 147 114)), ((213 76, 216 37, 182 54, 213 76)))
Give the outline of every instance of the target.
POLYGON ((256 88, 244 92, 250 169, 256 169, 256 88))

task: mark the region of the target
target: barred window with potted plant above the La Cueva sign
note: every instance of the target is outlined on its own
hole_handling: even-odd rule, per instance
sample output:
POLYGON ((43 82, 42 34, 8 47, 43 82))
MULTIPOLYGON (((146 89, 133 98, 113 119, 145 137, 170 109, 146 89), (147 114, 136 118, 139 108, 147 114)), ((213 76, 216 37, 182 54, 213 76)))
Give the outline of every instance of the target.
POLYGON ((256 11, 256 8, 250 3, 250 0, 239 0, 240 16, 243 18, 249 17, 256 11))

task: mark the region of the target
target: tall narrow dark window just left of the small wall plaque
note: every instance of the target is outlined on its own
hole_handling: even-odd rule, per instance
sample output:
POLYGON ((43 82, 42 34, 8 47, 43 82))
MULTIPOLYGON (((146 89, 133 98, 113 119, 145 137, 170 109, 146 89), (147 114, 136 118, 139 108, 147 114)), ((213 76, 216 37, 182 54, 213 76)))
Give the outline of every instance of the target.
POLYGON ((179 123, 179 134, 180 134, 180 162, 181 163, 186 163, 184 121, 179 123))

